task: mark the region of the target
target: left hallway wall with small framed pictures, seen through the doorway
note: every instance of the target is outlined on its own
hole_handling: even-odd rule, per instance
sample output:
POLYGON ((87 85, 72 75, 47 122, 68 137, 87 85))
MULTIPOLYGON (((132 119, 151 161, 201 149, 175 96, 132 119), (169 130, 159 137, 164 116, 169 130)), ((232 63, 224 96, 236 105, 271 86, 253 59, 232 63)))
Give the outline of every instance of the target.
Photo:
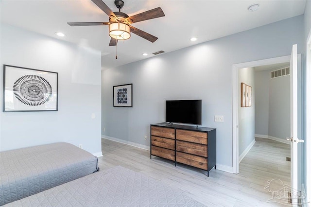
POLYGON ((238 73, 238 83, 244 83, 252 87, 252 106, 249 107, 241 107, 241 89, 239 88, 239 155, 241 155, 255 139, 256 86, 254 68, 239 69, 238 73))

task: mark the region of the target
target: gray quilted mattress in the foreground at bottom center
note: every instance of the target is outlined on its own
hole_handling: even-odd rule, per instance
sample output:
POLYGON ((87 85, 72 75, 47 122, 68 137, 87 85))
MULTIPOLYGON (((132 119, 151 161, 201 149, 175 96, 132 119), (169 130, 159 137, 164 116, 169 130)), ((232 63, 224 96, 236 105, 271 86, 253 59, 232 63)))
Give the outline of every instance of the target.
POLYGON ((204 206, 185 192, 121 166, 93 173, 5 207, 204 206))

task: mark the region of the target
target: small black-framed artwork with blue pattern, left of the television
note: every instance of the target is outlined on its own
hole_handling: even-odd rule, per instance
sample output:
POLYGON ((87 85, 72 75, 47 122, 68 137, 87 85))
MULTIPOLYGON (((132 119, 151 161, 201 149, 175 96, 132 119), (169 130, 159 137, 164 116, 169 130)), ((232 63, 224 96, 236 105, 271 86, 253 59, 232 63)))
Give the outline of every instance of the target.
POLYGON ((113 106, 133 107, 133 84, 113 86, 113 106))

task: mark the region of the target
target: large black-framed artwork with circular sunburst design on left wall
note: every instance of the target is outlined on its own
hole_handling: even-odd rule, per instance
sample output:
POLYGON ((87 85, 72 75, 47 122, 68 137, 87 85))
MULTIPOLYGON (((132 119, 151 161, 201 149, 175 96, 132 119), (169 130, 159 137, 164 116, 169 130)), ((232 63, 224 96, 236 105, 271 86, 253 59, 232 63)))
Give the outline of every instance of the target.
POLYGON ((3 65, 3 112, 57 111, 58 73, 3 65))

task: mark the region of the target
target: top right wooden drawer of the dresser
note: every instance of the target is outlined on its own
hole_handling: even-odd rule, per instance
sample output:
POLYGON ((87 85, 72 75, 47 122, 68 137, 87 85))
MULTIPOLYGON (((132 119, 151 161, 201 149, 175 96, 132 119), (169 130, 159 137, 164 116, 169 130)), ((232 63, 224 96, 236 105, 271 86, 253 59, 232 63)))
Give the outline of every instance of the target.
POLYGON ((176 139, 207 144, 207 133, 176 129, 176 139))

